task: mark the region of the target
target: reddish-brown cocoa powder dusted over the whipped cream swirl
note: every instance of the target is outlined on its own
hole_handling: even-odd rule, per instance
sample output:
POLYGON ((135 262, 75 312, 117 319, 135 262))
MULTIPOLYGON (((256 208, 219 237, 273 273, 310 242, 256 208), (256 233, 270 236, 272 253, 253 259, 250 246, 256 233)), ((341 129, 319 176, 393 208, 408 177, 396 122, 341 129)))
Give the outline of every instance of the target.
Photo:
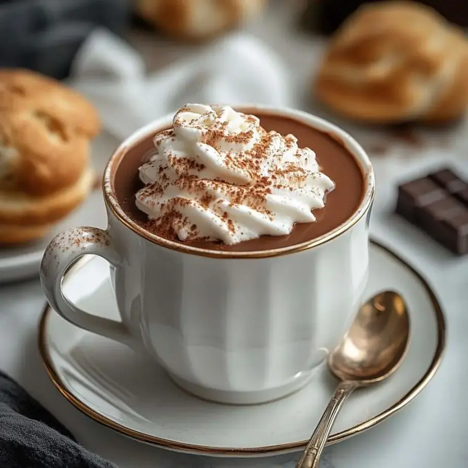
MULTIPOLYGON (((254 116, 244 115, 244 118, 251 124, 258 122, 254 116)), ((254 131, 247 126, 238 133, 229 133, 228 122, 215 121, 206 125, 202 120, 196 118, 190 121, 190 126, 202 133, 202 143, 218 151, 221 156, 218 162, 224 165, 229 173, 242 174, 246 181, 229 183, 220 178, 203 177, 202 173, 206 166, 196 162, 195 158, 165 153, 166 163, 159 161, 161 165, 157 169, 159 176, 157 182, 146 185, 140 191, 140 196, 146 198, 147 205, 159 205, 160 216, 148 221, 145 227, 166 239, 179 240, 178 230, 183 230, 187 241, 199 239, 200 232, 196 224, 181 214, 181 211, 184 212, 184 209, 190 205, 198 210, 201 208, 214 213, 219 222, 225 224, 232 233, 235 233, 236 226, 229 219, 229 213, 223 211, 223 200, 228 202, 229 207, 248 206, 273 220, 273 213, 267 209, 268 195, 272 193, 272 188, 294 190, 294 187, 300 187, 306 182, 307 172, 301 166, 304 164, 303 154, 299 151, 295 154, 297 165, 290 162, 284 166, 280 161, 280 168, 271 162, 275 156, 272 149, 278 147, 278 141, 275 142, 275 139, 282 139, 281 144, 290 149, 296 143, 295 137, 291 134, 282 137, 276 131, 267 132, 263 127, 257 126, 259 140, 250 149, 225 153, 222 151, 222 146, 225 148, 225 144, 249 146, 255 138, 254 131), (265 167, 268 167, 268 175, 265 175, 265 167), (171 178, 168 177, 168 173, 171 174, 171 178), (174 174, 177 176, 175 181, 174 174), (182 192, 196 196, 190 198, 179 196, 161 203, 170 185, 175 185, 182 192)), ((187 122, 182 122, 178 118, 174 121, 175 126, 183 124, 187 122)), ((168 137, 174 139, 174 136, 174 129, 164 130, 156 135, 154 143, 160 146, 162 139, 168 137)))

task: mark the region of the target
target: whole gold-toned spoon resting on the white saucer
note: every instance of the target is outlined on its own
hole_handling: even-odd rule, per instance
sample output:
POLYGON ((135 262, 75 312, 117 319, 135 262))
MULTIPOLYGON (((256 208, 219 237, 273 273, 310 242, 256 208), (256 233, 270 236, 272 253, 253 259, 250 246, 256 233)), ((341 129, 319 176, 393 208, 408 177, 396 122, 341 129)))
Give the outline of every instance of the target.
POLYGON ((328 370, 341 382, 315 428, 296 468, 316 468, 346 398, 359 387, 386 379, 403 361, 410 319, 399 294, 384 291, 359 310, 343 341, 328 356, 328 370))

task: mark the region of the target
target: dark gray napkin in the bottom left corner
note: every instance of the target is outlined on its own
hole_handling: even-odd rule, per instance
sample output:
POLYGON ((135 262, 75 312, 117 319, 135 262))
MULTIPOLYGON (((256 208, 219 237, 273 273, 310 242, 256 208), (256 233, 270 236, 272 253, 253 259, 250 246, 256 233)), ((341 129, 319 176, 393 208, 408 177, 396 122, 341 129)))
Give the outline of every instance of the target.
POLYGON ((76 443, 68 429, 1 371, 0 466, 117 468, 76 443))

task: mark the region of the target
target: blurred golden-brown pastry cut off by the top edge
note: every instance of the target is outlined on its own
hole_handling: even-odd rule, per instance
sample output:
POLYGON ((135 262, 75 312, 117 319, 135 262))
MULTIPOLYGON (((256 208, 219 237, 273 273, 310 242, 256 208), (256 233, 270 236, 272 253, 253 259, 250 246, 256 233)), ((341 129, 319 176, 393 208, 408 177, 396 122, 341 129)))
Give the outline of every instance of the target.
POLYGON ((265 0, 136 0, 138 15, 169 36, 206 39, 260 13, 265 0))

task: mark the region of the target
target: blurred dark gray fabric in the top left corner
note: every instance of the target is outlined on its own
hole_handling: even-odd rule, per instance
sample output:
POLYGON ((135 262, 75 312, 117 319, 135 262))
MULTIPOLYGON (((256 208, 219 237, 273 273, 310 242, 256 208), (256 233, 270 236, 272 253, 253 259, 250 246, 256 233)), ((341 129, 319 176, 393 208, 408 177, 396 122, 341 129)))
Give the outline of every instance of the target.
POLYGON ((129 0, 0 0, 0 66, 66 78, 89 32, 105 26, 119 34, 129 0))

